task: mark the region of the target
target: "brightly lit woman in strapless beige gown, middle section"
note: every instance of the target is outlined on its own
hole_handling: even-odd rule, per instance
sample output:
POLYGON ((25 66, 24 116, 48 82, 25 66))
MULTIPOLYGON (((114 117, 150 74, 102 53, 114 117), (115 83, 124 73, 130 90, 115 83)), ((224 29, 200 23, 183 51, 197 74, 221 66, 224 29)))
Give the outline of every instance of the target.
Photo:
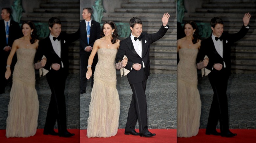
MULTIPOLYGON (((87 137, 110 137, 117 134, 120 100, 117 92, 115 58, 120 40, 112 21, 102 26, 101 37, 96 40, 88 60, 86 78, 92 76, 91 65, 97 52, 98 62, 94 72, 94 85, 89 105, 87 137)), ((123 60, 127 64, 127 58, 123 60)))

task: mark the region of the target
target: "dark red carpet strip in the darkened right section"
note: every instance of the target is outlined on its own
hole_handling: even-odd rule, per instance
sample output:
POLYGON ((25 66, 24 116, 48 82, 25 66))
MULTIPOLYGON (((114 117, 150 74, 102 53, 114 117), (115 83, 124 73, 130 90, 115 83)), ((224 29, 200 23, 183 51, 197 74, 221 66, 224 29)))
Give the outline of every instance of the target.
MULTIPOLYGON (((220 130, 217 130, 220 132, 220 130)), ((234 137, 222 137, 215 135, 205 135, 205 129, 199 129, 196 136, 184 138, 179 137, 177 143, 255 143, 256 129, 231 129, 232 133, 236 133, 234 137)))

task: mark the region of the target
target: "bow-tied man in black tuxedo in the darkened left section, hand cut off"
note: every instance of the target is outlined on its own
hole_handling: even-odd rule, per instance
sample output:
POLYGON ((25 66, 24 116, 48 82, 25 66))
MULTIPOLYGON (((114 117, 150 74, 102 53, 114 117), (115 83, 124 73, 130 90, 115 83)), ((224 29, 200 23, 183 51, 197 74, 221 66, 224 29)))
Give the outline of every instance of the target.
POLYGON ((46 79, 52 91, 43 134, 70 137, 75 134, 67 131, 64 90, 69 70, 68 46, 79 39, 79 30, 74 34, 61 33, 61 21, 56 17, 50 18, 48 24, 50 35, 39 41, 34 59, 38 62, 43 55, 46 57, 44 68, 49 71, 46 79), (53 130, 56 120, 58 133, 53 130))

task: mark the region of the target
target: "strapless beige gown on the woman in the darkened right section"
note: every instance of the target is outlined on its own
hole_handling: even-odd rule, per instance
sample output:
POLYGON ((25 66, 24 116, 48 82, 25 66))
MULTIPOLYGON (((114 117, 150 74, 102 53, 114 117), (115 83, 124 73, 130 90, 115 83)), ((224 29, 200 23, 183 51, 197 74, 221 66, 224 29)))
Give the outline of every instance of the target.
POLYGON ((201 100, 197 89, 196 57, 198 49, 179 49, 177 66, 177 136, 198 134, 201 100))

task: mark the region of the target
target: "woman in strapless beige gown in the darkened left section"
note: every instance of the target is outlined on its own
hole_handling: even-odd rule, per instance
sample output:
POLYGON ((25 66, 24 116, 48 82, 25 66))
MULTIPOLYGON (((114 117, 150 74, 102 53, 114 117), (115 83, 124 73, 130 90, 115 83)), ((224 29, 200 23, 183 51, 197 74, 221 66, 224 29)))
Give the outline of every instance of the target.
MULTIPOLYGON (((7 59, 5 78, 11 76, 12 57, 17 53, 17 62, 12 74, 12 87, 6 120, 6 137, 29 137, 35 135, 39 101, 35 90, 34 56, 38 47, 35 26, 31 21, 22 24, 23 37, 12 44, 7 59)), ((46 59, 43 59, 45 65, 46 59)))

